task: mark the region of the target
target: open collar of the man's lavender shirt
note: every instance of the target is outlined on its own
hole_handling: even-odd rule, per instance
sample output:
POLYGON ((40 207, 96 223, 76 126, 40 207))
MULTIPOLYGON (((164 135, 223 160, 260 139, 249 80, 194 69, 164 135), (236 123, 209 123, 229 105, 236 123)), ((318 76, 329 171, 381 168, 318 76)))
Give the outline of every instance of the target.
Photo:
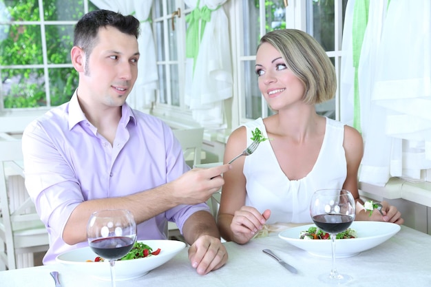
MULTIPOLYGON (((69 102, 69 130, 73 129, 73 127, 78 123, 87 121, 87 118, 79 105, 77 91, 78 89, 75 90, 69 102)), ((121 107, 121 115, 120 123, 125 123, 126 126, 127 123, 132 121, 135 126, 137 125, 134 111, 129 105, 127 105, 127 103, 121 107)))

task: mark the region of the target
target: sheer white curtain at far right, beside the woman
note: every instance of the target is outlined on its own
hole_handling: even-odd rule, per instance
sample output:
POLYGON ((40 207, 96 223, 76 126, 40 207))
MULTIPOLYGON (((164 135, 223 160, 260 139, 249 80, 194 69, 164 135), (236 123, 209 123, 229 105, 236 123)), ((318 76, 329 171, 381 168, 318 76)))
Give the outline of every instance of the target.
POLYGON ((359 60, 365 141, 359 180, 379 186, 392 176, 431 181, 431 2, 386 2, 369 2, 359 60))

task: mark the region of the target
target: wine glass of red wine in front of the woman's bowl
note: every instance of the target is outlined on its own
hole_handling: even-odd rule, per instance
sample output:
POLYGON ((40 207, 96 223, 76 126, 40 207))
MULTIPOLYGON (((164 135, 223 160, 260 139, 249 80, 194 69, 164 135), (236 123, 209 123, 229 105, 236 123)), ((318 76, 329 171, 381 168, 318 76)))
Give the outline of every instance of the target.
POLYGON ((311 198, 310 215, 316 226, 330 234, 332 269, 319 279, 330 284, 342 284, 352 277, 340 274, 335 267, 335 238, 355 220, 355 199, 346 189, 320 189, 311 198))

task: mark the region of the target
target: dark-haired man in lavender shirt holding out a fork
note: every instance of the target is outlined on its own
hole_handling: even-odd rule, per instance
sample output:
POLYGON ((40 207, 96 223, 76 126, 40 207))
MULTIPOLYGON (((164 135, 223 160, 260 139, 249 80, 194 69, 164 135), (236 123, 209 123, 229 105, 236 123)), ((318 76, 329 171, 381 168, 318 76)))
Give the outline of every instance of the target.
POLYGON ((138 75, 138 29, 132 16, 85 14, 70 53, 76 92, 24 131, 25 184, 50 234, 43 263, 87 245, 94 211, 128 209, 138 240, 165 239, 167 220, 176 222, 191 244, 191 265, 204 275, 227 262, 202 202, 220 189, 230 166, 189 171, 171 129, 127 105, 138 75))

